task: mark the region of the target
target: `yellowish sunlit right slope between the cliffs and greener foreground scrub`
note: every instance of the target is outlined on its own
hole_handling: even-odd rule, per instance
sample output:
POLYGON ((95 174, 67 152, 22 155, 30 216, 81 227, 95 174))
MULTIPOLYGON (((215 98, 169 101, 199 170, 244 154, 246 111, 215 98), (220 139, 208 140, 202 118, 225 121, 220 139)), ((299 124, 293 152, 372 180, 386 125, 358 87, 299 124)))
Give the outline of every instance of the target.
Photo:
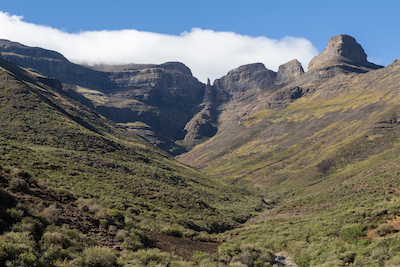
POLYGON ((282 196, 315 187, 397 145, 399 62, 296 86, 308 93, 284 108, 241 119, 182 160, 225 181, 282 196))

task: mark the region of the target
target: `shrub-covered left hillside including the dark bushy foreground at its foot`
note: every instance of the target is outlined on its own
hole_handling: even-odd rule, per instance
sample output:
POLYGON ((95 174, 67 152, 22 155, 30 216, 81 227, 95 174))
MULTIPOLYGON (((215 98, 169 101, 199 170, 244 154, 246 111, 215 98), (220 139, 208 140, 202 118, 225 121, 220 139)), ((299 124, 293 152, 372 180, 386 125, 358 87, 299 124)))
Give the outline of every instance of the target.
POLYGON ((150 235, 221 241, 267 207, 0 64, 1 266, 190 266, 192 255, 160 251, 150 235))

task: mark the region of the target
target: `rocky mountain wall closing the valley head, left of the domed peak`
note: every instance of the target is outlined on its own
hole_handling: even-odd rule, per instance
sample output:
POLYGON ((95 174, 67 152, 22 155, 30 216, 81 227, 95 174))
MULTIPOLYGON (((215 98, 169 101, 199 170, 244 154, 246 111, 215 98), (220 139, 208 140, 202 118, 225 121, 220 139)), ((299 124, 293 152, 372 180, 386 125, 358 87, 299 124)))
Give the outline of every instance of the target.
POLYGON ((8 40, 0 40, 0 55, 61 80, 63 90, 76 100, 172 155, 212 137, 221 107, 236 94, 280 88, 304 72, 297 60, 277 73, 256 63, 232 70, 211 86, 179 62, 81 66, 55 51, 8 40))

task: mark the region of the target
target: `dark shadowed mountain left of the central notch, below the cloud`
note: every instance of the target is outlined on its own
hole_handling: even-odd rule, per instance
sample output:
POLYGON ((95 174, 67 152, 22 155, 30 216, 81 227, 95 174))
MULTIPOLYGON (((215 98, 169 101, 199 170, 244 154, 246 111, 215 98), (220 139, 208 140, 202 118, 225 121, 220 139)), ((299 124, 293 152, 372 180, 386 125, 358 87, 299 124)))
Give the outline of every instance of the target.
POLYGON ((0 40, 0 55, 58 78, 75 99, 171 154, 185 151, 175 141, 184 138, 204 99, 205 85, 179 62, 81 66, 57 52, 8 40, 0 40))

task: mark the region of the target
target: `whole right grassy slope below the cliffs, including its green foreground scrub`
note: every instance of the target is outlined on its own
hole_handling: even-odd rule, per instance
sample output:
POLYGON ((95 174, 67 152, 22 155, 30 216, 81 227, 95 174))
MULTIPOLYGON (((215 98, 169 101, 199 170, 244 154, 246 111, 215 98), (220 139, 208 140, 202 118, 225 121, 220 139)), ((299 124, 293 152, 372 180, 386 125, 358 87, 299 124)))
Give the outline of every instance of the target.
POLYGON ((190 152, 206 173, 280 201, 231 231, 221 253, 257 244, 289 251, 299 266, 398 266, 399 84, 396 62, 302 85, 314 93, 246 118, 234 150, 216 136, 190 152))

